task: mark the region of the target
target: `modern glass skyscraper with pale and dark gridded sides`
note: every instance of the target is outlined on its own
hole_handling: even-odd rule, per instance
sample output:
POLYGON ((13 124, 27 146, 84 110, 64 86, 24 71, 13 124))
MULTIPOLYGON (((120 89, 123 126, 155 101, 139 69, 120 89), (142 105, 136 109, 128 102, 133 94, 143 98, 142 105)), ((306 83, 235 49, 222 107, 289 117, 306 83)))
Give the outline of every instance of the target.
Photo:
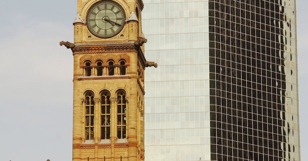
POLYGON ((300 160, 296 0, 145 0, 145 160, 300 160))

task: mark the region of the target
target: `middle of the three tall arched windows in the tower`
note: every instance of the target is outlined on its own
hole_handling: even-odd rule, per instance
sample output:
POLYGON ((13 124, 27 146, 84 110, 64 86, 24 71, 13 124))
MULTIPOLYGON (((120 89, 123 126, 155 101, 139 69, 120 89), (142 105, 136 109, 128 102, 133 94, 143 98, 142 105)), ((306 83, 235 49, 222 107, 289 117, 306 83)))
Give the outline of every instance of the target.
POLYGON ((110 94, 101 95, 101 139, 110 139, 110 94))

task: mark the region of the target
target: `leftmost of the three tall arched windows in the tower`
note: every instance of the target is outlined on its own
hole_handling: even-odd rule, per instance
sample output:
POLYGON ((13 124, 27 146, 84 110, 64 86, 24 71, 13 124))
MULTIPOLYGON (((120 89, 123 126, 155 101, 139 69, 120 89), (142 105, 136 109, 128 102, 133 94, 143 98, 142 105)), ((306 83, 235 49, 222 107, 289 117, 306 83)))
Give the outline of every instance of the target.
POLYGON ((91 92, 86 93, 86 113, 85 113, 85 139, 94 139, 94 95, 91 92))

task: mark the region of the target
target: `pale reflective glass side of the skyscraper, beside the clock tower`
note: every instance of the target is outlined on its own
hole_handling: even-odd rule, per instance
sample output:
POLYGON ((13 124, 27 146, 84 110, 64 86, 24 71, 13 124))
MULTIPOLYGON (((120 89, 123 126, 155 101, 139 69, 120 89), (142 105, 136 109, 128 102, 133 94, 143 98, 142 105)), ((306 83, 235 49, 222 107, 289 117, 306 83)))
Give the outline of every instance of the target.
POLYGON ((210 160, 208 1, 144 3, 145 160, 210 160))

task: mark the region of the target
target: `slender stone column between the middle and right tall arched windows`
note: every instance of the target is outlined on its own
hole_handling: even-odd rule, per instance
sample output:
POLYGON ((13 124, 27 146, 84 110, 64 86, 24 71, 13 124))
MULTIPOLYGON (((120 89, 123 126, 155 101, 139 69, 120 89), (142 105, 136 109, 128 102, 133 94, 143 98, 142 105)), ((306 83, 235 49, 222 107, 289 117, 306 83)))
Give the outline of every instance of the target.
POLYGON ((111 102, 111 161, 114 161, 115 159, 115 141, 116 141, 116 136, 115 136, 115 130, 117 128, 117 125, 115 124, 115 119, 116 119, 116 113, 115 113, 115 102, 117 101, 116 97, 110 97, 110 102, 111 102))

